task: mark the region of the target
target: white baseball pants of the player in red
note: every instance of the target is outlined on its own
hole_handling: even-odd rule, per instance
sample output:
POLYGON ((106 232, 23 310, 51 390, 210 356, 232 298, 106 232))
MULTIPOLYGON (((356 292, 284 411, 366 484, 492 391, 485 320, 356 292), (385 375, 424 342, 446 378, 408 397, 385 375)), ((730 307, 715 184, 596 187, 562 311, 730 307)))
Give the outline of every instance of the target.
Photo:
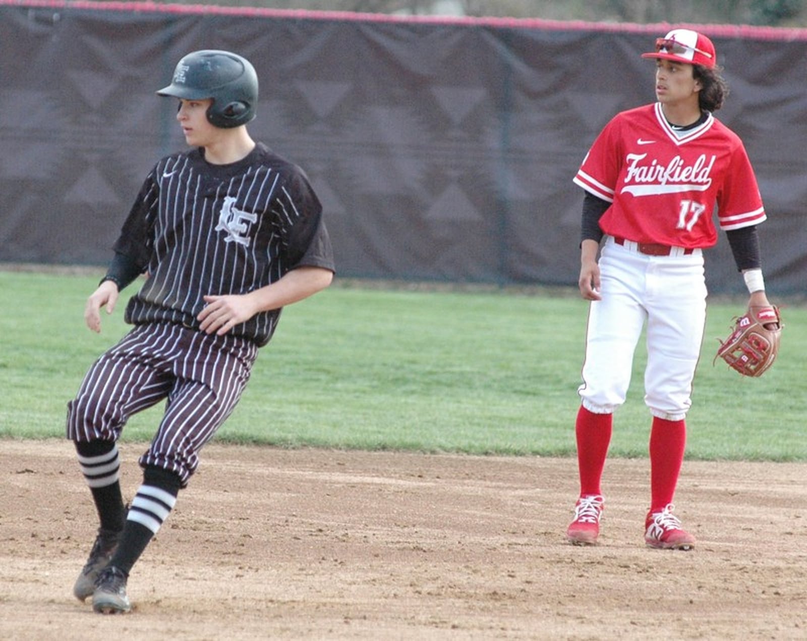
POLYGON ((625 402, 646 325, 645 403, 653 416, 684 419, 706 320, 702 253, 647 256, 606 237, 600 278, 602 300, 592 302, 588 315, 583 407, 613 413, 625 402))

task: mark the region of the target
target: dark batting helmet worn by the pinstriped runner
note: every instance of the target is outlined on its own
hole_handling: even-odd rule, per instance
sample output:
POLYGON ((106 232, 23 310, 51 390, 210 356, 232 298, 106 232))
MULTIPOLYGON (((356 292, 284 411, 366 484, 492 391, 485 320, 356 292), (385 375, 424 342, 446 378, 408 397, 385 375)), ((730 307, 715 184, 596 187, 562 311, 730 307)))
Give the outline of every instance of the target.
POLYGON ((223 129, 238 127, 255 117, 257 74, 236 53, 204 49, 183 57, 171 84, 157 94, 185 100, 213 98, 207 110, 210 124, 223 129))

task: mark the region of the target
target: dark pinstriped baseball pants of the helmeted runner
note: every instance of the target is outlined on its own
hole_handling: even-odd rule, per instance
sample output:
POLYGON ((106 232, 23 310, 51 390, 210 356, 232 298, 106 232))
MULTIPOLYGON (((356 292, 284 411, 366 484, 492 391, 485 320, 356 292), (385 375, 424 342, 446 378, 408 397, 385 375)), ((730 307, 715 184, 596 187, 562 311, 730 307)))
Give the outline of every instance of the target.
POLYGON ((116 441, 128 418, 166 400, 140 465, 173 471, 184 487, 199 450, 232 413, 257 356, 243 338, 182 325, 136 325, 102 354, 67 404, 67 438, 116 441))

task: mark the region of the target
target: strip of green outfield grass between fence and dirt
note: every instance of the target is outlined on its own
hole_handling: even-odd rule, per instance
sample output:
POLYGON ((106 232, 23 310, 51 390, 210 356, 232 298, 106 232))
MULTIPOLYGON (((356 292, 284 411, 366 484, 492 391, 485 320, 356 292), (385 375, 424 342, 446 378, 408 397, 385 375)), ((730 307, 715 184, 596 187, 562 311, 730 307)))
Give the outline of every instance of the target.
MULTIPOLYGON (((102 334, 82 313, 98 276, 0 271, 0 437, 64 434, 65 405, 94 358, 127 331, 126 295, 102 334)), ((575 292, 426 291, 336 283, 284 310, 223 442, 470 454, 572 455, 587 304, 575 292)), ((775 301, 781 302, 781 301, 775 301)), ((744 301, 709 306, 688 416, 690 459, 807 460, 807 309, 784 304, 783 350, 761 379, 713 366, 744 301)), ((646 456, 640 345, 612 455, 646 456)), ((161 406, 132 417, 151 438, 161 406)))

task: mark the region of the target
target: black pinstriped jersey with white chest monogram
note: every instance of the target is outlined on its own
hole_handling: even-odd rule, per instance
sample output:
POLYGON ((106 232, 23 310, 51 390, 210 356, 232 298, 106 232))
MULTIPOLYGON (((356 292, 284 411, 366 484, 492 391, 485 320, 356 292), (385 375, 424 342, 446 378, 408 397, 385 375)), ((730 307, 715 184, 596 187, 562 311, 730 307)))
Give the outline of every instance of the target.
MULTIPOLYGON (((197 329, 204 295, 246 294, 291 269, 334 269, 319 199, 303 170, 258 143, 232 165, 202 150, 163 158, 145 179, 115 251, 148 274, 125 320, 197 329)), ((230 333, 266 345, 280 310, 230 333)))

